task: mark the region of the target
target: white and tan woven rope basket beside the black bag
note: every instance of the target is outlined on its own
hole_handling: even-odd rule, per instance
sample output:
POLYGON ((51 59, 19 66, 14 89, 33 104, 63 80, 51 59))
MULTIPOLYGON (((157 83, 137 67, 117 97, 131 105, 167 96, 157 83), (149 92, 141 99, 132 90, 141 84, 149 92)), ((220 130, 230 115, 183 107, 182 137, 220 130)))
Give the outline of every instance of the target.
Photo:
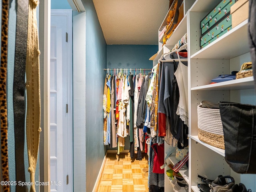
POLYGON ((197 106, 198 138, 209 145, 224 149, 224 134, 218 104, 202 101, 197 106))

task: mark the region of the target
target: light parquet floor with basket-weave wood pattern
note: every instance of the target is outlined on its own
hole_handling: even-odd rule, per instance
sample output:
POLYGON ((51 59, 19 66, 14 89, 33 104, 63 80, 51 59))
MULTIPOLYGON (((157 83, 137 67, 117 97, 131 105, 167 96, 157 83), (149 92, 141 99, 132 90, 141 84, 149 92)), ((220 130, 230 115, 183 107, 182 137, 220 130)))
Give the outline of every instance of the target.
POLYGON ((148 155, 140 161, 130 153, 107 153, 97 192, 148 192, 148 155))

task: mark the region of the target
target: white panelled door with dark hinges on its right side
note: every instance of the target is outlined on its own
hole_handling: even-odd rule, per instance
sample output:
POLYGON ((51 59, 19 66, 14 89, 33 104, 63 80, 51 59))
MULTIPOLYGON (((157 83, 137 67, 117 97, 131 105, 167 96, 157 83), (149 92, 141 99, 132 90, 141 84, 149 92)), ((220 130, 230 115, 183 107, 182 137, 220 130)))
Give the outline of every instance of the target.
POLYGON ((50 191, 73 190, 72 10, 51 11, 50 191))

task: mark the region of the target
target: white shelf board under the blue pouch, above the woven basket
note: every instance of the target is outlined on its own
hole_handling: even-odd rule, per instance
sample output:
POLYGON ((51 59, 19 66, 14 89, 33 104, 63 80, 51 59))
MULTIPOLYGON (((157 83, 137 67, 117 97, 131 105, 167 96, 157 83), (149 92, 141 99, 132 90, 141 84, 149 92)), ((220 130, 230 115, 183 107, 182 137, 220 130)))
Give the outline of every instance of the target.
POLYGON ((253 76, 230 81, 192 87, 191 90, 241 90, 254 88, 253 76))

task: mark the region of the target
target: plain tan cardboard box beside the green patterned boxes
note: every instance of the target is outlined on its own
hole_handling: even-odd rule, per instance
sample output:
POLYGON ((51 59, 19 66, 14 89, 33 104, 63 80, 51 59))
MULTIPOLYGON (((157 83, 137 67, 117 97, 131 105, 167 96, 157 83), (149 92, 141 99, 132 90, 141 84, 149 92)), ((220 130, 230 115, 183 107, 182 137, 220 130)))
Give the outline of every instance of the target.
POLYGON ((248 19, 249 17, 249 0, 238 0, 230 8, 232 14, 232 28, 248 19))

